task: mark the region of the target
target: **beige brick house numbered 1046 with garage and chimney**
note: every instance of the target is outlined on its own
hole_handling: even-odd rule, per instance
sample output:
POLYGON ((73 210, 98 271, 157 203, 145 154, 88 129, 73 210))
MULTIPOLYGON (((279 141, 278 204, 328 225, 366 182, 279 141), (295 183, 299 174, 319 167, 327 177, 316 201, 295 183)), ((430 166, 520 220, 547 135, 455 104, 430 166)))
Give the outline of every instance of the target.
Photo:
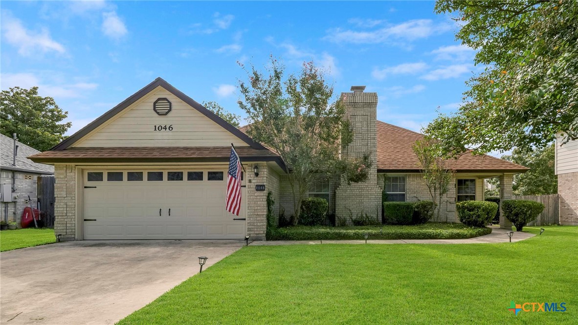
MULTIPOLYGON (((368 180, 319 180, 309 192, 328 200, 338 218, 379 219, 384 182, 391 200, 429 199, 412 152, 422 135, 377 121, 377 94, 363 88, 343 94, 355 136, 342 154, 370 153, 376 164, 368 180)), ((55 166, 55 232, 62 239, 265 239, 268 191, 276 214, 292 210, 280 157, 161 78, 30 158, 55 166), (231 143, 246 169, 239 217, 225 210, 231 143)), ((510 198, 512 176, 527 170, 471 154, 454 165, 455 187, 442 206, 450 222, 457 221, 455 201, 483 200, 484 178, 499 176, 502 197, 510 198)))

